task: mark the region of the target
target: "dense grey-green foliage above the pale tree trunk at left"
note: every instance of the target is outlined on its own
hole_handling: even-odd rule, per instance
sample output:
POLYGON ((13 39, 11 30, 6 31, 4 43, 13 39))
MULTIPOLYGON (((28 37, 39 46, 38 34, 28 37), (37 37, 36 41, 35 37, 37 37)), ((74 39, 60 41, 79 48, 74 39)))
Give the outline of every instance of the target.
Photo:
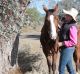
POLYGON ((0 36, 10 39, 13 33, 19 32, 25 23, 24 10, 28 1, 0 0, 0 36))

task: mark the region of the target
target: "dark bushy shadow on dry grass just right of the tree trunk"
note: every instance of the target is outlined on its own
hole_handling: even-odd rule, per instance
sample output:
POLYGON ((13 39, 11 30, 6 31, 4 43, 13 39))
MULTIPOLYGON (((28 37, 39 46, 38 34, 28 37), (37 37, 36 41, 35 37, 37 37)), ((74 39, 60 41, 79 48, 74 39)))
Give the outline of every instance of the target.
POLYGON ((40 57, 40 54, 30 55, 28 52, 20 52, 18 54, 18 64, 23 74, 32 71, 33 68, 38 71, 38 67, 34 67, 34 63, 40 60, 40 57))

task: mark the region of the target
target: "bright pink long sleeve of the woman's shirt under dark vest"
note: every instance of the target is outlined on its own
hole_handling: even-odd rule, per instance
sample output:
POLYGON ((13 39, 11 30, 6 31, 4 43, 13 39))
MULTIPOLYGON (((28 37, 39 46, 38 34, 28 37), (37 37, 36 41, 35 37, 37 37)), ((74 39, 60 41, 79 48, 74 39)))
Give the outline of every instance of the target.
POLYGON ((69 36, 70 40, 63 42, 66 47, 74 46, 77 44, 77 28, 75 26, 70 27, 69 36))

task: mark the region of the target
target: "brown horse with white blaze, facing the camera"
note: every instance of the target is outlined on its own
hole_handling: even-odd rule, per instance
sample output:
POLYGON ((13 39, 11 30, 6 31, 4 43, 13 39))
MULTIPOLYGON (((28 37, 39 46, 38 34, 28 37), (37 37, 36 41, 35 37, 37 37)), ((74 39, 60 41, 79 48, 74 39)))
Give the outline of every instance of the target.
POLYGON ((58 46, 58 23, 59 17, 58 4, 53 9, 48 9, 43 6, 46 12, 44 25, 41 29, 40 42, 42 45, 43 52, 47 59, 49 68, 49 74, 55 74, 56 72, 56 61, 59 51, 58 46))

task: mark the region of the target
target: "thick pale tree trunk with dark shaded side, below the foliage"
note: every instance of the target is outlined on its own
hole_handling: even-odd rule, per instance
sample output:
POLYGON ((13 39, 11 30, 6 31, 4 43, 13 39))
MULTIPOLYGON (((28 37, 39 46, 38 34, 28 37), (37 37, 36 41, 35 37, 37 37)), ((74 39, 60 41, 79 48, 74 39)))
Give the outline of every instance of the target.
POLYGON ((0 74, 22 74, 17 63, 18 44, 19 34, 13 34, 8 41, 0 38, 0 74))

